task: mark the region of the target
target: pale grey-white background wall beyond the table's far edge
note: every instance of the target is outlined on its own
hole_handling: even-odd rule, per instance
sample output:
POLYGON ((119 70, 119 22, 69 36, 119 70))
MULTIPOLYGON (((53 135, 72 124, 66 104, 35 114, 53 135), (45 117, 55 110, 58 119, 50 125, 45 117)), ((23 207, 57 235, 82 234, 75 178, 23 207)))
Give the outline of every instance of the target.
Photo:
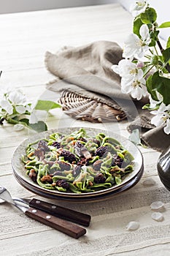
MULTIPOLYGON (((0 14, 9 12, 28 12, 34 10, 49 10, 63 7, 81 7, 96 4, 120 4, 129 10, 135 0, 0 0, 0 14)), ((158 23, 170 20, 170 0, 149 0, 158 12, 158 23)), ((170 29, 162 29, 161 36, 167 39, 170 29)))

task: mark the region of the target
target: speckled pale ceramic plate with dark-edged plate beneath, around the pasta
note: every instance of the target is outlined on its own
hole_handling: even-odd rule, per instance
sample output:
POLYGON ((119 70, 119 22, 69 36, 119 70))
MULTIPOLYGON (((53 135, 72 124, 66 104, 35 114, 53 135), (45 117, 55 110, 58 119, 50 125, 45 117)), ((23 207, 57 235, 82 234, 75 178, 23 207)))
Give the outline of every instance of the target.
POLYGON ((38 195, 51 197, 51 198, 63 198, 63 199, 74 199, 74 200, 82 200, 82 199, 94 199, 98 197, 102 197, 105 195, 110 194, 116 194, 118 191, 124 190, 124 188, 128 188, 128 184, 134 184, 134 181, 139 181, 139 179, 142 176, 143 173, 143 157, 142 153, 139 151, 139 148, 137 148, 134 143, 131 143, 130 140, 127 140, 126 138, 123 138, 120 135, 117 135, 113 132, 103 130, 103 129, 93 129, 93 128, 85 128, 88 135, 95 137, 96 134, 99 132, 104 132, 107 136, 115 138, 118 140, 121 145, 127 149, 133 156, 134 156, 134 170, 133 172, 129 173, 125 178, 123 179, 122 183, 119 185, 115 185, 113 187, 109 187, 109 189, 101 189, 96 192, 86 192, 82 194, 76 194, 73 192, 59 192, 58 190, 50 190, 45 189, 42 187, 39 187, 38 184, 34 183, 34 181, 31 180, 26 175, 26 169, 24 167, 24 164, 21 160, 22 154, 26 154, 26 147, 28 146, 28 143, 33 143, 36 140, 43 139, 43 138, 49 138, 49 135, 53 134, 54 132, 61 132, 65 135, 69 135, 70 133, 74 132, 75 130, 80 129, 80 127, 74 127, 74 128, 60 128, 60 129, 53 129, 49 130, 47 132, 41 132, 37 135, 34 135, 26 140, 23 141, 23 143, 18 146, 18 148, 15 150, 13 156, 12 156, 12 168, 15 178, 18 180, 18 182, 23 186, 26 187, 26 189, 31 190, 32 192, 35 192, 38 195), (134 180, 134 181, 133 181, 134 180))

